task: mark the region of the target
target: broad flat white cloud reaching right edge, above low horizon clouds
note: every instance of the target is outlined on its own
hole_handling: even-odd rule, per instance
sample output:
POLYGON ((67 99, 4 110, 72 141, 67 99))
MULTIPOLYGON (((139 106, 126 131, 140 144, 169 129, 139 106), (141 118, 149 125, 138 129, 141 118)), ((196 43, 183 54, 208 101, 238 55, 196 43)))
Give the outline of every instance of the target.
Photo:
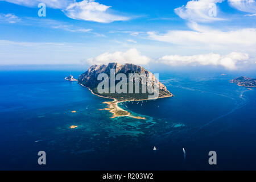
POLYGON ((200 47, 255 47, 256 28, 243 28, 234 31, 168 31, 166 34, 157 32, 147 32, 152 40, 168 42, 181 46, 200 46, 200 47))

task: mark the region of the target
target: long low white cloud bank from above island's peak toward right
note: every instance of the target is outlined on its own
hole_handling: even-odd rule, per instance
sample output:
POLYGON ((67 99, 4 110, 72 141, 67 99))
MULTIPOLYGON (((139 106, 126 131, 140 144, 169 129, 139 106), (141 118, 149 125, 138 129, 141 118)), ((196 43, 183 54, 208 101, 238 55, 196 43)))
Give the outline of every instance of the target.
POLYGON ((86 62, 89 65, 108 64, 110 62, 118 62, 121 64, 133 63, 138 65, 154 63, 166 64, 172 67, 196 67, 209 65, 214 67, 224 67, 225 69, 229 70, 236 70, 238 68, 247 67, 248 65, 253 64, 253 62, 249 59, 250 56, 247 53, 231 52, 227 55, 220 55, 217 53, 208 53, 192 56, 166 55, 154 61, 147 56, 141 55, 141 53, 137 51, 137 49, 133 48, 125 52, 105 52, 97 57, 92 57, 88 59, 86 62))

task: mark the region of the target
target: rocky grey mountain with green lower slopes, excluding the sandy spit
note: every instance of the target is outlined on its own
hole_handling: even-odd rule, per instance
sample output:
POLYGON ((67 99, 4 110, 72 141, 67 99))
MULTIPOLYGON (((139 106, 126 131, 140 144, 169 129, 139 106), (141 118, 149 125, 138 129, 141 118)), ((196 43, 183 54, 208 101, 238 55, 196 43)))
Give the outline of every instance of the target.
MULTIPOLYGON (((164 86, 161 82, 159 82, 151 72, 149 72, 146 69, 144 69, 143 67, 141 67, 139 65, 135 65, 135 64, 125 64, 125 65, 122 65, 119 63, 109 63, 108 65, 105 65, 105 64, 96 65, 95 64, 95 65, 92 65, 88 69, 88 71, 86 71, 85 73, 82 73, 82 75, 79 76, 78 82, 79 82, 79 84, 86 86, 87 88, 92 90, 92 92, 94 94, 97 94, 98 96, 115 98, 118 101, 148 99, 148 96, 151 96, 152 93, 149 93, 149 92, 143 93, 142 92, 142 90, 143 90, 142 84, 150 85, 154 89, 154 88, 156 88, 157 83, 158 83, 158 85, 159 85, 158 98, 173 96, 173 94, 167 90, 166 86, 164 86), (142 78, 139 78, 139 93, 138 92, 133 92, 133 93, 129 92, 128 93, 128 91, 127 91, 127 93, 117 93, 117 92, 99 93, 98 92, 98 84, 100 84, 100 82, 102 82, 102 80, 98 80, 98 76, 101 73, 105 73, 105 75, 107 75, 110 78, 108 81, 109 88, 111 87, 110 80, 112 79, 111 76, 113 76, 113 74, 116 76, 119 73, 122 73, 120 75, 126 76, 125 78, 122 77, 122 79, 119 78, 119 80, 117 78, 114 78, 114 80, 115 80, 114 84, 117 85, 118 82, 125 81, 127 83, 127 84, 125 84, 125 86, 127 86, 127 90, 129 90, 129 84, 131 84, 131 82, 129 82, 129 81, 131 81, 132 79, 134 79, 133 81, 135 81, 135 79, 136 79, 136 78, 129 77, 130 75, 137 75, 137 76, 146 75, 147 78, 150 77, 151 80, 143 80, 142 78), (123 80, 123 79, 126 79, 126 80, 123 80)), ((121 88, 122 87, 123 86, 121 86, 121 88)), ((133 82, 133 89, 134 88, 135 88, 135 83, 133 82)))

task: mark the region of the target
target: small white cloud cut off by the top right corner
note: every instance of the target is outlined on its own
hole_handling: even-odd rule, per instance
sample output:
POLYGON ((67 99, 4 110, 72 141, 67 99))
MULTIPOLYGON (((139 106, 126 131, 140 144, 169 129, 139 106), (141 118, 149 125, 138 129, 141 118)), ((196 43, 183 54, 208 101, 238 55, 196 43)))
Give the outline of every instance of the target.
POLYGON ((229 0, 230 6, 247 13, 256 13, 255 0, 229 0))

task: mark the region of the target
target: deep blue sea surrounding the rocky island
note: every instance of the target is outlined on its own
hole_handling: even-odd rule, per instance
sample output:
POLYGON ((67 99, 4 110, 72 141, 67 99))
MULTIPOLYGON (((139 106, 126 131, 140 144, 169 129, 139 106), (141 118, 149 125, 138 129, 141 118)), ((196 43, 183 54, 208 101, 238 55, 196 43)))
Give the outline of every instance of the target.
POLYGON ((65 81, 69 71, 1 71, 0 169, 255 170, 256 89, 229 82, 239 74, 159 73, 175 97, 120 105, 140 120, 110 119, 100 110, 108 99, 65 81), (47 165, 38 165, 38 151, 47 165))

